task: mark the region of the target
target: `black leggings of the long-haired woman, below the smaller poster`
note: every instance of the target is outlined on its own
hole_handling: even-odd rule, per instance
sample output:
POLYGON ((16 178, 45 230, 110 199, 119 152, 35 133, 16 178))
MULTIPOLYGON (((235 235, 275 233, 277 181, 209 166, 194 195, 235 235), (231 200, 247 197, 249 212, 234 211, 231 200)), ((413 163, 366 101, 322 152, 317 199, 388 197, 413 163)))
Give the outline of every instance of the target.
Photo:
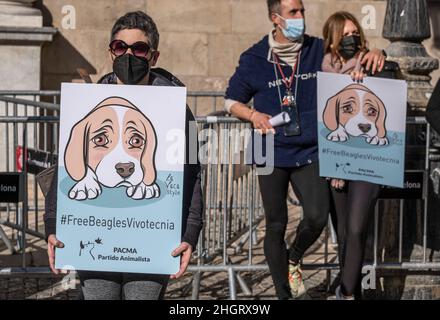
POLYGON ((342 191, 332 188, 337 215, 341 289, 345 295, 359 293, 368 221, 374 212, 380 187, 362 181, 346 181, 342 191))

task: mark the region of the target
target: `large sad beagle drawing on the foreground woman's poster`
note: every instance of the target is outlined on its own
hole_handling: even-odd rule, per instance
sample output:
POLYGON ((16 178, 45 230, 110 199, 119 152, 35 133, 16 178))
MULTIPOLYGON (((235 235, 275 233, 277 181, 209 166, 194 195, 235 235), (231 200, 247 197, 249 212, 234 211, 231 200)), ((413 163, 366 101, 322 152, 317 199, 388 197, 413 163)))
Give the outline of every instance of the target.
POLYGON ((69 198, 95 199, 102 186, 126 187, 134 200, 158 198, 156 141, 150 120, 130 101, 105 99, 70 132, 64 163, 76 184, 69 198))

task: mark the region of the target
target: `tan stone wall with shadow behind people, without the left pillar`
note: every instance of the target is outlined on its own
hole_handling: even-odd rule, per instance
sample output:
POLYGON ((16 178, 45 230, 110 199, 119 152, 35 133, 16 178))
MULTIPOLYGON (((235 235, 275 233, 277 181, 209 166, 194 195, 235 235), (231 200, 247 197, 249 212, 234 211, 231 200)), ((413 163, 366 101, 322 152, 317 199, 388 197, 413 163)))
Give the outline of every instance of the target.
MULTIPOLYGON (((366 30, 372 47, 387 47, 388 41, 382 38, 386 1, 304 0, 304 4, 308 33, 320 36, 331 13, 348 10, 373 28, 366 30)), ((37 6, 43 11, 44 24, 60 31, 54 42, 43 48, 45 89, 59 88, 61 81, 78 78, 77 67, 89 70, 94 80, 109 72, 109 32, 127 11, 145 10, 155 19, 161 34, 159 65, 182 78, 190 90, 224 90, 240 53, 271 29, 265 0, 39 0, 37 6), (73 30, 63 27, 66 6, 76 11, 73 30)), ((440 9, 438 4, 431 6, 435 8, 431 11, 435 29, 440 9)), ((426 46, 433 56, 440 57, 437 30, 426 46)))

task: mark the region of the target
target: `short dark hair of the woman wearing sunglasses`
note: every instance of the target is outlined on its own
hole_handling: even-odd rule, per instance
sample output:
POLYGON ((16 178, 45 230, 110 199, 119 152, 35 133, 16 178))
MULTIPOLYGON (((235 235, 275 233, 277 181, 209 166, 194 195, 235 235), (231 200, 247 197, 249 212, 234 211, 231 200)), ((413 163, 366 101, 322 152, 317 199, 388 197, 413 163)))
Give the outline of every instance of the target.
POLYGON ((139 29, 142 30, 150 40, 149 45, 157 50, 159 47, 159 31, 153 19, 142 11, 129 12, 120 17, 112 29, 111 41, 115 39, 116 34, 121 30, 139 29))

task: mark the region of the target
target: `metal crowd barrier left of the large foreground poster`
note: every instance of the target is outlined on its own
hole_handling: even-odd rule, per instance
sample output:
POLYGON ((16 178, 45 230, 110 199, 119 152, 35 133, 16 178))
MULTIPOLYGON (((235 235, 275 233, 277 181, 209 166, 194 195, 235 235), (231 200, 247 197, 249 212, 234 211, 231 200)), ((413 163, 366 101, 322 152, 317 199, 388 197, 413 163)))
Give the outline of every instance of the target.
POLYGON ((23 150, 56 152, 58 101, 58 91, 0 91, 0 172, 23 169, 26 185, 26 197, 21 204, 0 204, 0 233, 11 253, 22 252, 22 268, 27 267, 26 235, 44 238, 44 198, 35 175, 26 173, 23 150), (6 237, 2 225, 18 231, 17 248, 6 237))

